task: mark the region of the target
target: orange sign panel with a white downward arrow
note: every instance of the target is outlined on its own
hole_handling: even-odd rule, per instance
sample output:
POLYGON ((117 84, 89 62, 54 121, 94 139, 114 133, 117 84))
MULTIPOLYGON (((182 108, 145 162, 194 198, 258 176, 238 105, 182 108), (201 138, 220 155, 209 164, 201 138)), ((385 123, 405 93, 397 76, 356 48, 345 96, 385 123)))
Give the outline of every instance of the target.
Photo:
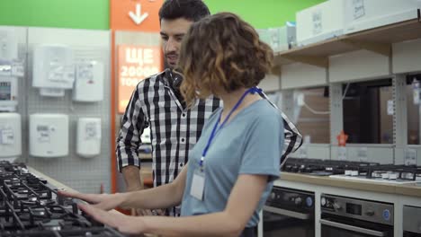
POLYGON ((110 0, 112 30, 159 32, 158 12, 164 0, 110 0))

